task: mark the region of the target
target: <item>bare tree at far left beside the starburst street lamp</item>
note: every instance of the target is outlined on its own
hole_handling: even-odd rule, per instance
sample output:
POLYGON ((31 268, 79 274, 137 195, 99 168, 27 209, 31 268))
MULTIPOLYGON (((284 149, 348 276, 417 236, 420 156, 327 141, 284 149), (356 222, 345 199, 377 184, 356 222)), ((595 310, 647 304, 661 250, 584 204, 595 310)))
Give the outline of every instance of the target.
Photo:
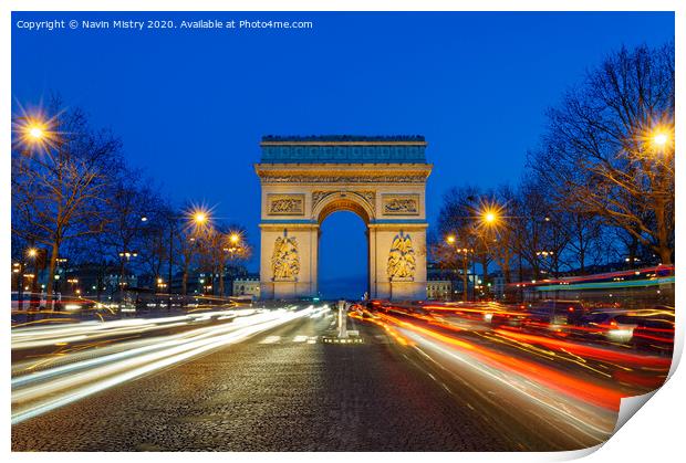
POLYGON ((107 218, 102 214, 112 179, 123 166, 121 141, 107 130, 93 130, 81 109, 60 111, 44 123, 42 138, 27 146, 25 120, 15 120, 18 143, 12 149, 12 206, 20 220, 13 232, 33 234, 50 250, 48 301, 62 244, 100 233, 107 218))

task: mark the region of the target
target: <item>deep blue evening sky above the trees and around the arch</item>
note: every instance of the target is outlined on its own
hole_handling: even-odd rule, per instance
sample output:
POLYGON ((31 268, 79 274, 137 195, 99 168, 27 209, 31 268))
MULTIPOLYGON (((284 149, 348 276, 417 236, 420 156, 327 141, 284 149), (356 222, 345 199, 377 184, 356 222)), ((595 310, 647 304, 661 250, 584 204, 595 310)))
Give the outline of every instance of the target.
MULTIPOLYGON (((12 96, 50 92, 111 127, 163 191, 216 207, 259 245, 262 135, 422 134, 427 210, 466 182, 514 182, 548 106, 622 44, 674 38, 672 13, 14 13, 12 96), (18 20, 309 20, 312 30, 29 32, 18 20)), ((17 105, 13 106, 17 111, 17 105)), ((326 295, 360 296, 362 221, 323 224, 326 295), (344 255, 343 263, 336 255, 344 255), (333 281, 340 281, 334 285, 333 281)), ((257 259, 250 264, 257 271, 257 259)))

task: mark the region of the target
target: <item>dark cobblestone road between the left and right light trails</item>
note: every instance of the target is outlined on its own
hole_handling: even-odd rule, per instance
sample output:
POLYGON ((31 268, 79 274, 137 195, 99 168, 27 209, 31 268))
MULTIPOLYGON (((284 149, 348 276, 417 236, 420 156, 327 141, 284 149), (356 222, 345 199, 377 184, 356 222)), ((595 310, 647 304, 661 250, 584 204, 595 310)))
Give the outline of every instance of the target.
MULTIPOLYGON (((12 427, 14 451, 508 451, 573 445, 493 418, 477 397, 371 325, 334 317, 241 344, 12 427)), ((534 425, 536 423, 533 423, 534 425)))

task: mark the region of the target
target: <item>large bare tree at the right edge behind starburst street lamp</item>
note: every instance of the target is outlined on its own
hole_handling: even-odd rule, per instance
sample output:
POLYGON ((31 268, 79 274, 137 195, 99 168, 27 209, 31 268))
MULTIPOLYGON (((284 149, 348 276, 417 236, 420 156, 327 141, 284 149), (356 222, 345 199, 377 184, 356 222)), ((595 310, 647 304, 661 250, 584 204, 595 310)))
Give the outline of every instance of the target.
POLYGON ((530 165, 559 197, 674 253, 674 44, 610 55, 549 112, 530 165))

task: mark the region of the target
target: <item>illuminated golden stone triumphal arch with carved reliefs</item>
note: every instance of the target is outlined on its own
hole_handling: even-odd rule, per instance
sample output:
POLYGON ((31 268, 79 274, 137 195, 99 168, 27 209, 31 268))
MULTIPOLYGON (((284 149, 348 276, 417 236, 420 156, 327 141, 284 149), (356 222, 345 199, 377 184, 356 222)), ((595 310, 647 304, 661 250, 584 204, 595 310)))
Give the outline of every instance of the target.
POLYGON ((426 141, 420 136, 263 137, 262 298, 318 295, 319 235, 335 211, 367 227, 372 298, 426 298, 426 141))

